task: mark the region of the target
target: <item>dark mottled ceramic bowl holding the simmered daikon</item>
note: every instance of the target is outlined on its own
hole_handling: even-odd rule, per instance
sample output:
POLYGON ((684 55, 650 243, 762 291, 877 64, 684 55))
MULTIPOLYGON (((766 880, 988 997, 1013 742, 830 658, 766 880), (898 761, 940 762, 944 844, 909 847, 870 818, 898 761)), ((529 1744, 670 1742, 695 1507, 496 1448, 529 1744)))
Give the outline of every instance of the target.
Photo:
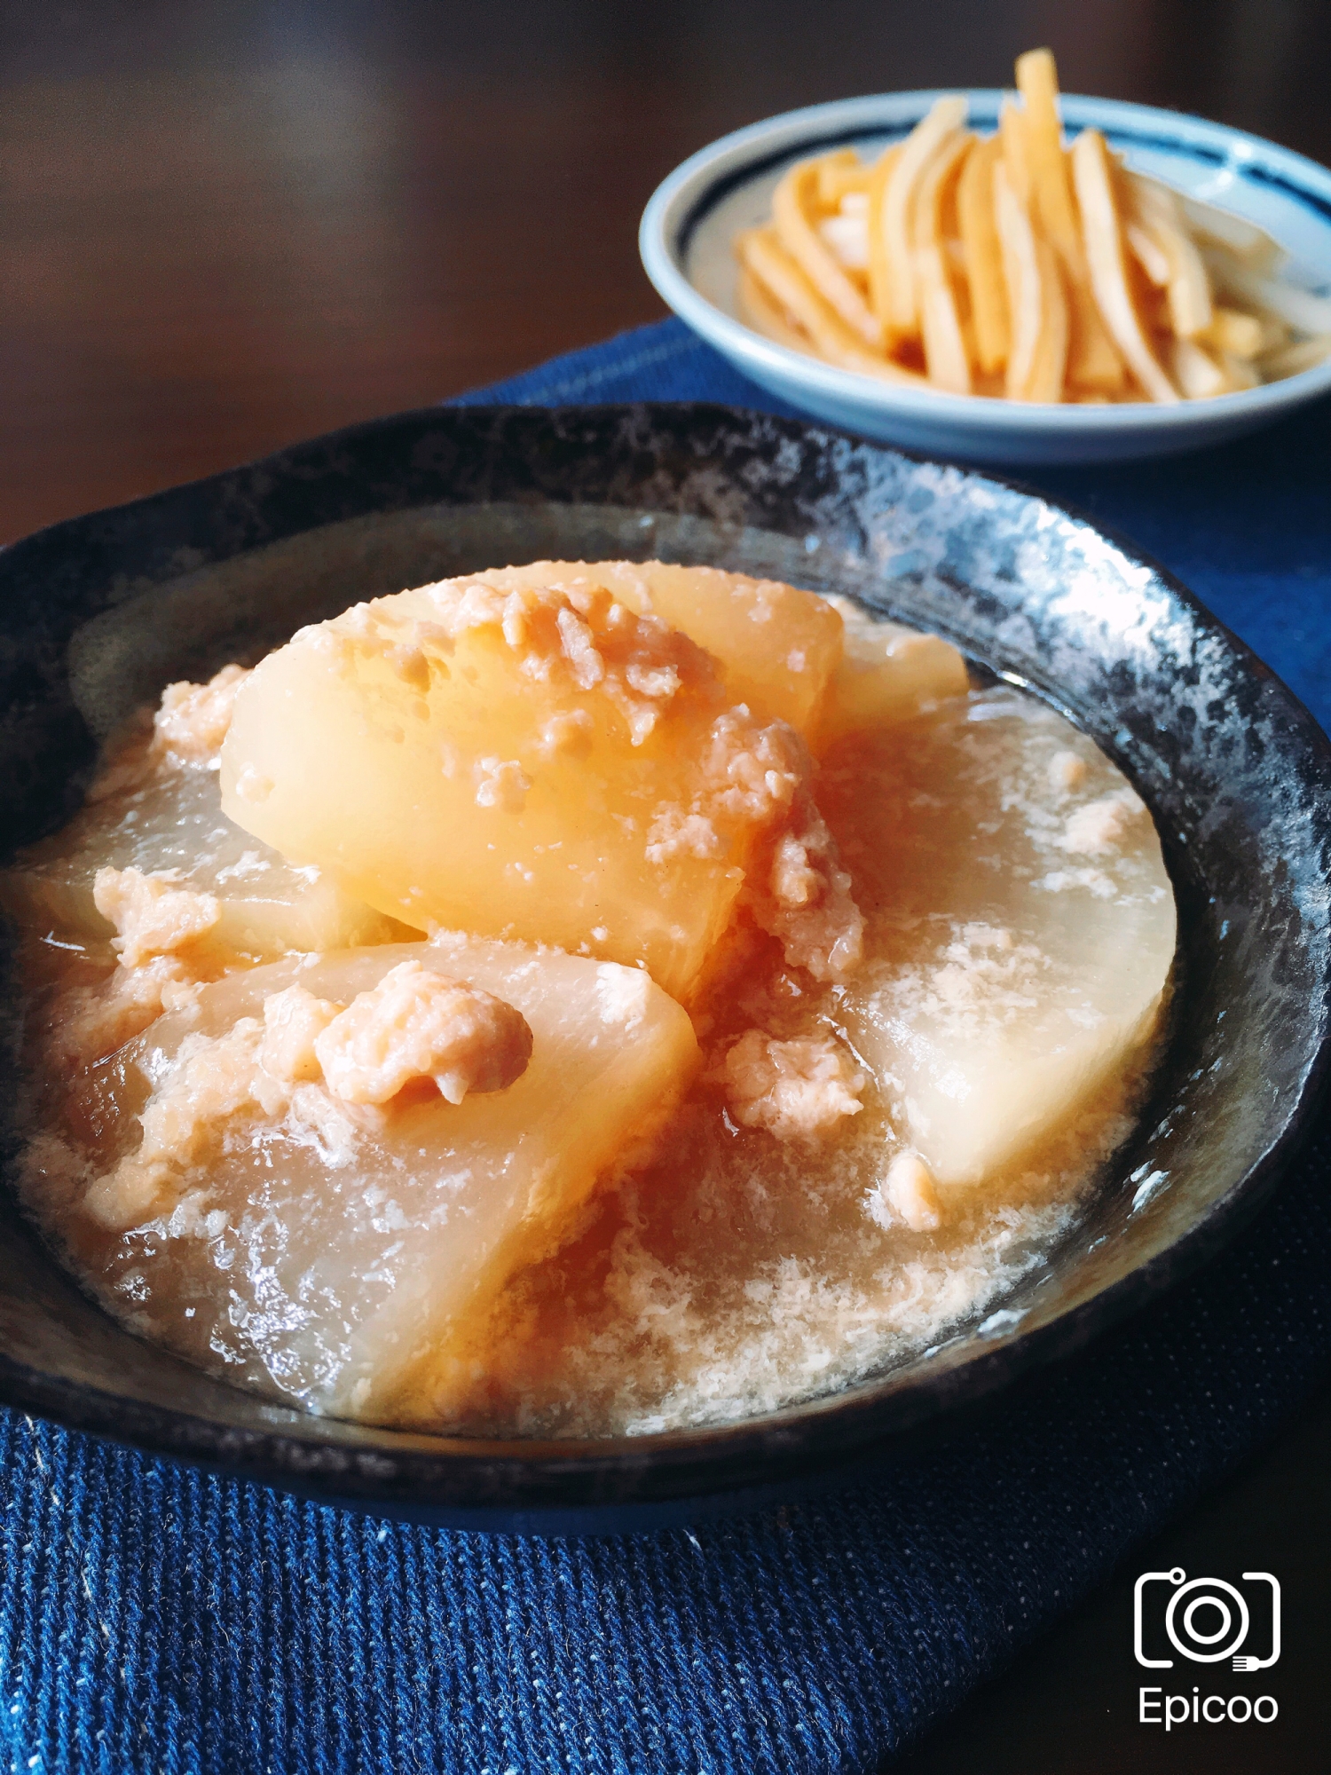
POLYGON ((1051 698, 1129 772, 1178 896, 1152 1102, 1006 1312, 813 1404, 722 1429, 483 1443, 264 1404, 137 1342, 0 1198, 0 1399, 383 1514, 605 1528, 891 1457, 1067 1358, 1230 1237, 1327 1065, 1331 753, 1248 650, 1130 548, 1001 481, 717 406, 429 410, 0 554, 0 809, 78 802, 94 742, 183 674, 376 593, 543 556, 664 556, 850 591, 1051 698))

